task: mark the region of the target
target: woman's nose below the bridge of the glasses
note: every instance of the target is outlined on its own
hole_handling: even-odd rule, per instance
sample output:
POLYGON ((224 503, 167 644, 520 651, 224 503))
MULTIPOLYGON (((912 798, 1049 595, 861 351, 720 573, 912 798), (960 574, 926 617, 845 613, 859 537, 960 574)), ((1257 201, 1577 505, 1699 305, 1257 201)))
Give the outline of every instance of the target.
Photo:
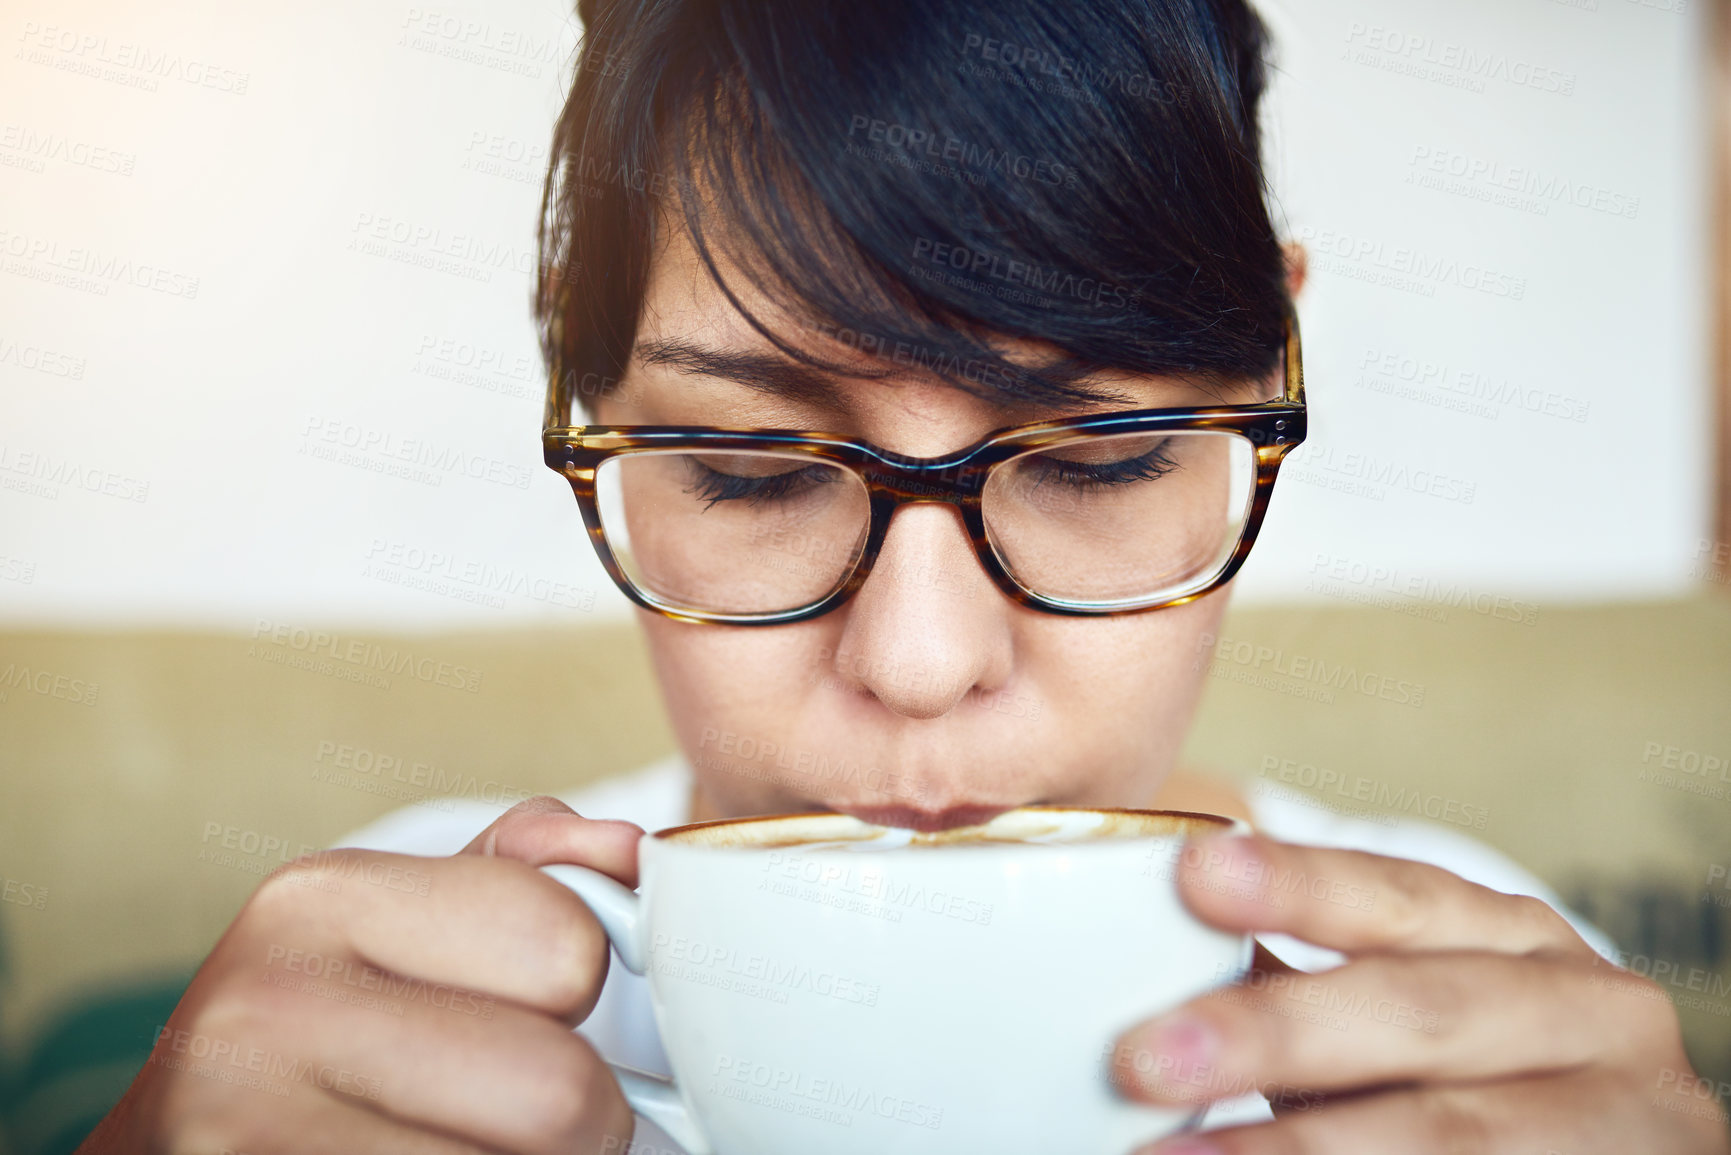
POLYGON ((1007 681, 1014 610, 980 568, 956 507, 902 506, 841 610, 836 672, 895 713, 943 717, 973 687, 1007 681))

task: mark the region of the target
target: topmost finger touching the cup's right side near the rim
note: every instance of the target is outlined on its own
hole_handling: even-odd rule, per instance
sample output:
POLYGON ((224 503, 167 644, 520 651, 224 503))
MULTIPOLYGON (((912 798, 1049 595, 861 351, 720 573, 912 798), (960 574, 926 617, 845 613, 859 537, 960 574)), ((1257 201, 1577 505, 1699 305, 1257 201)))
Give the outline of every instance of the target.
POLYGON ((1179 890, 1222 930, 1277 932, 1345 954, 1376 951, 1563 951, 1591 958, 1568 921, 1426 862, 1300 847, 1255 835, 1193 843, 1179 890))

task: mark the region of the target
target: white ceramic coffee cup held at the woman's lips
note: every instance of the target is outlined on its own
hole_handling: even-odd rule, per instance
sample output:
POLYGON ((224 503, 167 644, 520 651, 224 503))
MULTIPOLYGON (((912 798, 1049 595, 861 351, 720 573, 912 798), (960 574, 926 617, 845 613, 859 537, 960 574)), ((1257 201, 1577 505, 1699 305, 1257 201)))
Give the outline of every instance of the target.
POLYGON ((801 814, 649 835, 639 892, 544 869, 649 977, 673 1081, 615 1074, 691 1155, 1125 1155, 1200 1113, 1116 1094, 1113 1039, 1250 966, 1250 937, 1174 883, 1186 838, 1224 829, 1245 826, 1025 807, 911 835, 801 814))

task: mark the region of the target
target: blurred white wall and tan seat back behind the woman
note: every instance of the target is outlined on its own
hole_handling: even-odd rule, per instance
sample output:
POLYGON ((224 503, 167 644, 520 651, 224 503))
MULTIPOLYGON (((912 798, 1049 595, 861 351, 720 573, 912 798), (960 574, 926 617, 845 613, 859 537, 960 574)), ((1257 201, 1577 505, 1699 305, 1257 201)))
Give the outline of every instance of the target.
MULTIPOLYGON (((1260 7, 1314 433, 1191 764, 1475 816, 1731 1079, 1719 5, 1260 7)), ((576 36, 554 0, 0 5, 0 1152, 76 1146, 296 852, 673 748, 538 454, 576 36)))

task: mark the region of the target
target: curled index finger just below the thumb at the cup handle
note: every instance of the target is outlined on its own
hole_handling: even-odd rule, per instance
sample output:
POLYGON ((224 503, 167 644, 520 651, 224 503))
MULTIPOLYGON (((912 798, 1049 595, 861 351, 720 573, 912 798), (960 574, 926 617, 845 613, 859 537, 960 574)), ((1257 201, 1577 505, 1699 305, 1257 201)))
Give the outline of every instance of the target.
POLYGON ((348 985, 386 971, 578 1016, 608 973, 589 907, 514 859, 331 850, 282 868, 248 906, 244 958, 348 985))

